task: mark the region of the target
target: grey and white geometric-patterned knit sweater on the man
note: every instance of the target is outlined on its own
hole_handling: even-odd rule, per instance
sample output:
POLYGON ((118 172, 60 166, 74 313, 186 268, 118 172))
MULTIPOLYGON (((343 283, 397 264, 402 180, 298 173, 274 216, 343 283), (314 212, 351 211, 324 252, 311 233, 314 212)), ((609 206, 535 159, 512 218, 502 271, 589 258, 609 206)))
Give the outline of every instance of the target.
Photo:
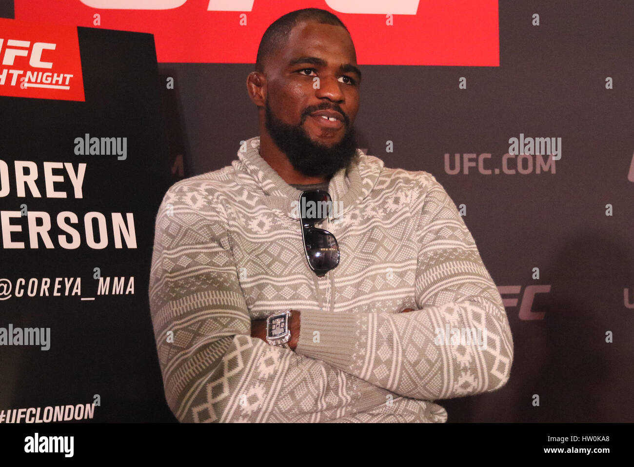
POLYGON ((304 254, 300 192, 259 155, 259 137, 165 194, 149 296, 179 421, 444 422, 434 400, 507 382, 500 294, 434 176, 358 149, 328 191, 342 209, 318 227, 340 262, 322 278, 304 254), (286 308, 301 312, 295 351, 250 337, 251 320, 286 308), (454 328, 484 330, 486 345, 454 328))

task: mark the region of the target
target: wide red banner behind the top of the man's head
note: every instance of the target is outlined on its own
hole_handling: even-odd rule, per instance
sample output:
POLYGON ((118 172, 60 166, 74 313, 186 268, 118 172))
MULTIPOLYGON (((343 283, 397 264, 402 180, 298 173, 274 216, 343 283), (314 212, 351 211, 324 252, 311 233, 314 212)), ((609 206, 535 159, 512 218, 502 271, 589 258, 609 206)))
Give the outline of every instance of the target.
POLYGON ((159 62, 255 63, 266 28, 322 8, 363 65, 500 65, 496 0, 15 0, 18 20, 149 32, 159 62))

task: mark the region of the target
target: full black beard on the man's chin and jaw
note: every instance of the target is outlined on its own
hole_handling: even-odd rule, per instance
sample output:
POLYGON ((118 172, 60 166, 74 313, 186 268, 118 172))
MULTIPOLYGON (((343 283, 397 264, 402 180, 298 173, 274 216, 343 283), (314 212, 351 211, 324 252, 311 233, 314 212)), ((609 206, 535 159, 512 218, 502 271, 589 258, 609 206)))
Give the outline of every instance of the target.
MULTIPOLYGON (((354 127, 346 129, 346 134, 339 143, 328 147, 311 140, 303 124, 289 125, 276 119, 268 101, 264 107, 265 125, 269 135, 299 173, 330 179, 339 169, 347 168, 356 154, 357 138, 354 127)), ((307 117, 308 115, 304 116, 304 122, 307 117)))

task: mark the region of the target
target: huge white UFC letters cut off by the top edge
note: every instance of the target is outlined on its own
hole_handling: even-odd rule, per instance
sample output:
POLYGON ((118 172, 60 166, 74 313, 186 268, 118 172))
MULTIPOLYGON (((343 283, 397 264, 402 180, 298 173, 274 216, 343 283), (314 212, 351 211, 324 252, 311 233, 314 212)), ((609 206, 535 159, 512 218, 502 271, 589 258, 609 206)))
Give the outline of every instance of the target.
MULTIPOLYGON (((91 8, 103 10, 172 10, 187 0, 80 0, 91 8)), ((376 15, 416 15, 420 0, 325 0, 339 13, 376 15)), ((209 0, 207 11, 253 11, 255 0, 209 0)), ((298 2, 297 8, 301 8, 298 2)))

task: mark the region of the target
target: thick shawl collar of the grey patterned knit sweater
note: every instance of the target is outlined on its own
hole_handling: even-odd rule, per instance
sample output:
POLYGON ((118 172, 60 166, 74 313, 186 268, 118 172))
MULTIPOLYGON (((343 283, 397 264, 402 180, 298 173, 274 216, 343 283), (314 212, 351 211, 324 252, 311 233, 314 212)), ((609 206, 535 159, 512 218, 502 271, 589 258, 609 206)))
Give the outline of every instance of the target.
MULTIPOLYGON (((294 206, 297 206, 301 190, 288 185, 275 169, 262 159, 259 149, 260 137, 254 136, 246 140, 238 150, 238 160, 231 162, 238 173, 238 181, 243 185, 249 185, 250 192, 263 194, 269 207, 278 209, 284 216, 295 218, 294 206), (295 204, 292 204, 294 201, 295 204)), ((341 207, 333 210, 332 219, 353 209, 370 194, 383 167, 384 162, 378 157, 364 154, 361 149, 356 150, 347 168, 339 169, 333 174, 328 184, 328 193, 333 204, 341 207)))

